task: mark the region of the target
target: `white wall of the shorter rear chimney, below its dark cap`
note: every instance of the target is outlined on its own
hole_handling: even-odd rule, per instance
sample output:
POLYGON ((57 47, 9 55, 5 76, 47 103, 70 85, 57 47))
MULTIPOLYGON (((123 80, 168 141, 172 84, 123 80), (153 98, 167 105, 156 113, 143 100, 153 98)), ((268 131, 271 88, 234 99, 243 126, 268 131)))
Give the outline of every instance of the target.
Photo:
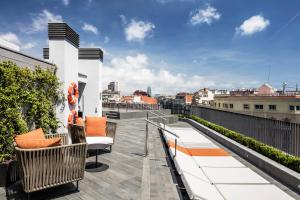
POLYGON ((100 60, 80 59, 79 73, 87 75, 84 95, 84 116, 102 116, 102 101, 100 92, 102 91, 102 62, 100 60))

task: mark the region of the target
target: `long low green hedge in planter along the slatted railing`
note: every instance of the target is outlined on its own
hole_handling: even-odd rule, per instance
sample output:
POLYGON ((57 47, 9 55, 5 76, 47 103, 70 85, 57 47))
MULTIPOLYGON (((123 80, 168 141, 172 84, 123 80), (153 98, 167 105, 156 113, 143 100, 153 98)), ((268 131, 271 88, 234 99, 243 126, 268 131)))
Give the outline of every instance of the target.
POLYGON ((196 122, 203 124, 204 126, 211 128, 222 135, 246 146, 254 151, 261 153, 262 155, 296 171, 300 172, 300 158, 296 156, 289 155, 284 153, 283 151, 266 145, 262 142, 255 140, 254 138, 245 136, 243 134, 237 133, 235 131, 224 128, 223 126, 219 126, 217 124, 208 122, 200 117, 195 115, 179 115, 179 118, 189 118, 195 120, 196 122))

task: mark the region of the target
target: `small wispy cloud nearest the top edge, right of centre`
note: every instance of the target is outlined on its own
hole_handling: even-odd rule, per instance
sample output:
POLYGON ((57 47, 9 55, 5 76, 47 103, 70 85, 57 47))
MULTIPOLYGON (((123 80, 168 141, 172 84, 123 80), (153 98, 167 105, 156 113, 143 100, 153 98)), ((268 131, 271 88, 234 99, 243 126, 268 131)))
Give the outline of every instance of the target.
POLYGON ((214 21, 221 18, 221 14, 217 12, 217 9, 210 6, 209 4, 205 9, 198 9, 196 12, 191 13, 190 22, 192 25, 208 24, 210 25, 214 21))

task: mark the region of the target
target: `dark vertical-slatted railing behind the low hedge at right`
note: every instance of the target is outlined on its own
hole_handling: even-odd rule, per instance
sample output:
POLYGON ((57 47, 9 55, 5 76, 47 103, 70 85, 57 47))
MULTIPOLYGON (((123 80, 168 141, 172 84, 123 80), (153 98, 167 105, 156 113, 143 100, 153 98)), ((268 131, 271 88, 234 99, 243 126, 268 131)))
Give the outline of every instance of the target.
POLYGON ((191 106, 189 114, 255 138, 288 154, 300 156, 300 124, 203 106, 191 106))

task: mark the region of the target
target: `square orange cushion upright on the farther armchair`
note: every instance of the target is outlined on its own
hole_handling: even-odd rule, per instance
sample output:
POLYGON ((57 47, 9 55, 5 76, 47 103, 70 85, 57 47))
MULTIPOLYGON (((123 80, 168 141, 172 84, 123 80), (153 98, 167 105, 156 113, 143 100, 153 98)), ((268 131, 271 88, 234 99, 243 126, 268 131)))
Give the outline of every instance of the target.
POLYGON ((86 136, 106 136, 106 117, 85 117, 86 136))

